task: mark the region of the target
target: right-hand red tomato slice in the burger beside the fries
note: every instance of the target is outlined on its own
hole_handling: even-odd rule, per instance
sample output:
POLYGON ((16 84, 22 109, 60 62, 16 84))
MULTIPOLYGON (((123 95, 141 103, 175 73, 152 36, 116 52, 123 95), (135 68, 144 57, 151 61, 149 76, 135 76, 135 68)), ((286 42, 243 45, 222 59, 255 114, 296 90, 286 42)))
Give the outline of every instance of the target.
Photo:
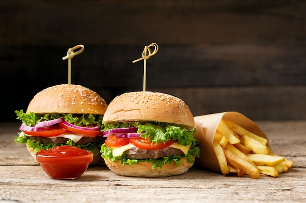
POLYGON ((163 149, 163 148, 168 148, 170 145, 175 143, 175 140, 167 141, 165 143, 152 143, 150 140, 142 138, 142 137, 137 137, 137 138, 130 138, 129 142, 134 145, 137 148, 141 149, 163 149))

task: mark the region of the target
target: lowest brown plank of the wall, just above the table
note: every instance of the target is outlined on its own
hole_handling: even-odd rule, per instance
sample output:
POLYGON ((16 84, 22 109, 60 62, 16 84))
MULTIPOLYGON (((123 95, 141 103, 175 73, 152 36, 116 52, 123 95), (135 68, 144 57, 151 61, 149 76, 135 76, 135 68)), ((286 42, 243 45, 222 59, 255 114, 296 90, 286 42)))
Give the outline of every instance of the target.
MULTIPOLYGON (((142 91, 141 88, 93 89, 109 103, 124 92, 142 91)), ((204 115, 223 111, 238 111, 254 120, 298 120, 306 119, 306 88, 285 87, 216 87, 216 88, 147 88, 152 92, 164 92, 181 98, 193 114, 204 115)), ((15 110, 26 110, 32 98, 26 92, 11 93, 10 106, 2 112, 7 116, 3 121, 16 121, 15 110), (20 98, 23 98, 21 100, 20 98), (8 120, 7 120, 8 119, 8 120)), ((3 118, 2 118, 3 119, 3 118)))

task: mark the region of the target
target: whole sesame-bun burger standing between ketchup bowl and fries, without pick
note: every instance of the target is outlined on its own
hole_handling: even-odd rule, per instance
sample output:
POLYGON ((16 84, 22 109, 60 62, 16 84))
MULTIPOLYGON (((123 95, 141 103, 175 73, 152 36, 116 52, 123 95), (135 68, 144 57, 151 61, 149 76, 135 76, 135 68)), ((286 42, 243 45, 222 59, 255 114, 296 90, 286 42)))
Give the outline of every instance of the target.
POLYGON ((181 99, 159 92, 128 92, 114 98, 103 117, 107 137, 101 155, 123 176, 183 174, 199 156, 195 121, 181 99))

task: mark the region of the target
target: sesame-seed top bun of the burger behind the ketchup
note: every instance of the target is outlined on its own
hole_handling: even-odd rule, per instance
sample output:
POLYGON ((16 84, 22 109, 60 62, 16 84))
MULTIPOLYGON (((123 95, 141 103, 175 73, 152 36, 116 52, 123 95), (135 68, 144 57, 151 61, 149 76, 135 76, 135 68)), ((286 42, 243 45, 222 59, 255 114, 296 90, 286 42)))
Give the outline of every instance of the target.
POLYGON ((26 113, 92 113, 103 115, 107 103, 96 92, 81 85, 62 84, 38 92, 26 113))

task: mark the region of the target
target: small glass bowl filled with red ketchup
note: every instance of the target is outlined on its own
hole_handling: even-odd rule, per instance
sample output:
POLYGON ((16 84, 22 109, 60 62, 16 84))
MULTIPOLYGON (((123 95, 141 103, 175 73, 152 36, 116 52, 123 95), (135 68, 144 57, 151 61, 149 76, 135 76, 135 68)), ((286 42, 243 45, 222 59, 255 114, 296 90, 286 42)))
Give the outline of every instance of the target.
POLYGON ((40 150, 36 160, 44 172, 54 179, 75 179, 80 177, 93 159, 93 153, 73 146, 57 146, 40 150))

